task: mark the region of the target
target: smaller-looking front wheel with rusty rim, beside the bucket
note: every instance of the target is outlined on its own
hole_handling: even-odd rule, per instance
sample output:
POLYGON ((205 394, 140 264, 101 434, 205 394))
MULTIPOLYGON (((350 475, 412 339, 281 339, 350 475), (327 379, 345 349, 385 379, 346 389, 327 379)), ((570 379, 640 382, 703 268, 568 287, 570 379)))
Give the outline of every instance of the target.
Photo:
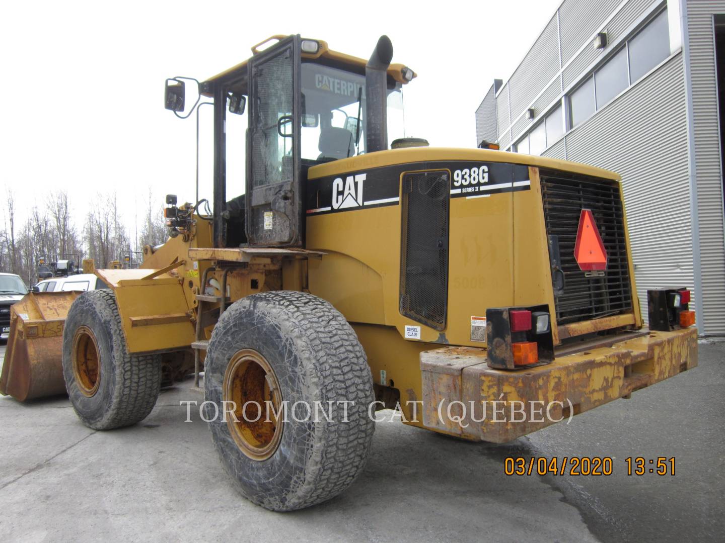
POLYGON ((143 420, 161 384, 161 356, 128 353, 115 294, 91 290, 75 299, 63 329, 63 377, 78 418, 109 430, 143 420))

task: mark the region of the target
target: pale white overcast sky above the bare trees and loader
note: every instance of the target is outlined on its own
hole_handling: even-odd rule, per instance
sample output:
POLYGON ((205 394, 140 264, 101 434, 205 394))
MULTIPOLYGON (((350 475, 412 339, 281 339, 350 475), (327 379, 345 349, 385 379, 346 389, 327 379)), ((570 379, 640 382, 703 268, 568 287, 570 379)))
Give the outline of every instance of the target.
MULTIPOLYGON (((387 34, 393 62, 418 73, 404 90, 406 135, 431 146, 475 147, 474 114, 492 80, 508 79, 559 4, 7 2, 0 18, 0 213, 8 186, 21 220, 31 206, 44 207, 47 193, 65 188, 78 227, 98 192, 117 190, 131 222, 149 187, 158 206, 166 193, 193 200, 194 117, 182 121, 163 108, 165 78, 203 80, 247 59, 254 43, 273 34, 322 39, 364 59, 387 34)), ((210 111, 202 125, 210 127, 210 111)), ((210 149, 210 139, 204 145, 210 149)), ((201 176, 204 196, 208 160, 201 176)), ((233 182, 230 198, 242 191, 242 180, 233 182)))

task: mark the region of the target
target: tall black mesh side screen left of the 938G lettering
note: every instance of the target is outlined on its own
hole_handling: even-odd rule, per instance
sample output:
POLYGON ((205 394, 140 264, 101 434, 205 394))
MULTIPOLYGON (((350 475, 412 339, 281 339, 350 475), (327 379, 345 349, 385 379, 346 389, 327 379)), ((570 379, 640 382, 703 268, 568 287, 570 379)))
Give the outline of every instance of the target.
POLYGON ((436 330, 446 323, 449 205, 447 171, 403 176, 400 313, 436 330))

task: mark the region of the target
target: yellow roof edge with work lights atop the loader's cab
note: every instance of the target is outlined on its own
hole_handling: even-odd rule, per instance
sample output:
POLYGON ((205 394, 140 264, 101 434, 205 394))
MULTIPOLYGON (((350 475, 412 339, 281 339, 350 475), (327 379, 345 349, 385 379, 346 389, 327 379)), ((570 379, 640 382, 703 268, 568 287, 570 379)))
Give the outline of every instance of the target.
MULTIPOLYGON (((270 36, 265 41, 261 41, 260 43, 257 43, 257 45, 252 46, 252 58, 254 55, 260 54, 262 51, 265 51, 268 48, 260 49, 261 46, 266 45, 267 43, 271 43, 270 46, 273 46, 274 43, 277 43, 279 41, 282 41, 286 38, 289 38, 289 36, 282 35, 282 34, 276 34, 273 36, 270 36)), ((365 59, 361 59, 359 56, 352 56, 345 53, 340 53, 339 51, 333 51, 330 49, 326 41, 322 40, 315 40, 312 38, 302 38, 303 40, 307 41, 316 41, 319 43, 319 48, 316 53, 305 53, 302 51, 301 56, 303 59, 325 59, 329 64, 336 65, 338 67, 345 67, 347 69, 352 68, 352 70, 355 70, 360 73, 365 73, 365 64, 368 64, 368 61, 365 59)), ((231 87, 231 90, 234 90, 236 92, 247 94, 247 63, 249 62, 249 59, 245 60, 244 62, 241 62, 240 64, 237 64, 236 66, 233 66, 229 68, 228 70, 224 70, 223 72, 218 73, 217 75, 214 75, 204 81, 204 84, 202 85, 202 95, 204 96, 213 96, 212 95, 212 84, 215 83, 223 83, 225 85, 229 85, 231 87)), ((406 68, 405 64, 390 64, 388 67, 388 75, 389 77, 392 77, 397 83, 401 83, 402 85, 405 85, 406 83, 409 83, 408 80, 405 79, 403 75, 403 69, 406 68)), ((418 74, 413 72, 413 78, 417 77, 418 74)))

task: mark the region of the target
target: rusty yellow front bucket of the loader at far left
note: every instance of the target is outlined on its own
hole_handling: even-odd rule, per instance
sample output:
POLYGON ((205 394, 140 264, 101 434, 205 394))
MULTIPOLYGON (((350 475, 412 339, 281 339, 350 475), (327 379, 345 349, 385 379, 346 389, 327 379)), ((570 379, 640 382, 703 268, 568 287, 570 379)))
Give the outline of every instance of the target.
POLYGON ((0 393, 24 402, 65 393, 63 324, 81 292, 30 292, 10 308, 0 393))

